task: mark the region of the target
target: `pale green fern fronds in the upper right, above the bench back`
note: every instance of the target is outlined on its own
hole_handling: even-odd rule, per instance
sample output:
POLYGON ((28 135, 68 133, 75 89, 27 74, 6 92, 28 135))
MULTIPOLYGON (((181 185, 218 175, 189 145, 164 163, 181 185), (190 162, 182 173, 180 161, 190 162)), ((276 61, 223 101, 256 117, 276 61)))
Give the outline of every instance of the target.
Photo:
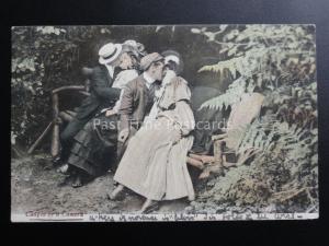
POLYGON ((226 94, 205 102, 201 107, 222 109, 254 87, 276 91, 295 82, 303 85, 314 81, 314 32, 311 25, 246 25, 216 34, 215 37, 223 40, 218 42, 209 35, 211 32, 200 30, 200 34, 219 45, 219 54, 225 54, 227 59, 204 66, 198 71, 224 75, 228 70, 237 79, 226 94))

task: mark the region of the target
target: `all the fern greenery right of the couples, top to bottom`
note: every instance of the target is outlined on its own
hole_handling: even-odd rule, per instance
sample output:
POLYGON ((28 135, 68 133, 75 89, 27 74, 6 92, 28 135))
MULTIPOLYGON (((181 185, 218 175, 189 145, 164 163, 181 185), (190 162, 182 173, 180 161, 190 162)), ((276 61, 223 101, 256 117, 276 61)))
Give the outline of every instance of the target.
POLYGON ((248 126, 237 154, 249 162, 207 184, 194 207, 274 206, 274 211, 308 211, 318 202, 318 130, 315 28, 311 25, 246 25, 192 30, 218 44, 226 59, 204 66, 235 81, 201 108, 229 108, 245 93, 265 95, 260 118, 248 126), (212 35, 213 34, 213 35, 212 35), (219 42, 220 40, 220 42, 219 42), (209 206, 207 203, 209 202, 209 206))

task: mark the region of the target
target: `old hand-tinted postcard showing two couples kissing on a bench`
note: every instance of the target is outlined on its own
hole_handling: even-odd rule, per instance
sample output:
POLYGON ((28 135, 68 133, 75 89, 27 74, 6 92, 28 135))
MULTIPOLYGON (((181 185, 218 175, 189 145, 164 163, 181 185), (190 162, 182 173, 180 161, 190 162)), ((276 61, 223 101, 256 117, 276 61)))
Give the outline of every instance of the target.
POLYGON ((313 24, 13 26, 13 222, 319 216, 313 24))

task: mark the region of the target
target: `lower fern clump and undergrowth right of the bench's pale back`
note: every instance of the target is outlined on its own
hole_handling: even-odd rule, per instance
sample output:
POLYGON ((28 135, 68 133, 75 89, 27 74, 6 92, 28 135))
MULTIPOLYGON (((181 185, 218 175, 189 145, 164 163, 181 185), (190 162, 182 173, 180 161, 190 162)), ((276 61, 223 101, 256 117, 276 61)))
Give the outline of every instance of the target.
MULTIPOLYGON (((305 212, 318 208, 318 132, 297 125, 256 120, 247 130, 239 153, 260 150, 249 163, 207 183, 193 207, 215 204, 252 207, 268 212, 305 212)), ((254 210, 256 211, 256 210, 254 210)), ((241 210, 240 210, 241 212, 241 210)))

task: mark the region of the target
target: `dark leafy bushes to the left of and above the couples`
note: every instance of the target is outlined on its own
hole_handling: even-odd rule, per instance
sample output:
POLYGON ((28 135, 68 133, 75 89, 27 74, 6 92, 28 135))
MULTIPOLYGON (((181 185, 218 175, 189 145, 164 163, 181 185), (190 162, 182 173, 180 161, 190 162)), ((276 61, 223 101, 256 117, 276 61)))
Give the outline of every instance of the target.
MULTIPOLYGON (((50 91, 61 85, 82 84, 81 67, 95 66, 98 50, 107 42, 135 39, 144 44, 148 51, 175 49, 184 60, 189 60, 182 75, 190 85, 206 84, 207 78, 198 78, 195 67, 201 58, 211 57, 215 47, 209 47, 202 36, 195 37, 190 28, 163 25, 13 27, 12 143, 25 148, 36 140, 52 120, 50 91)), ((71 109, 79 103, 68 95, 60 98, 61 108, 71 109)), ((41 147, 47 150, 47 143, 49 141, 45 140, 41 147)))

